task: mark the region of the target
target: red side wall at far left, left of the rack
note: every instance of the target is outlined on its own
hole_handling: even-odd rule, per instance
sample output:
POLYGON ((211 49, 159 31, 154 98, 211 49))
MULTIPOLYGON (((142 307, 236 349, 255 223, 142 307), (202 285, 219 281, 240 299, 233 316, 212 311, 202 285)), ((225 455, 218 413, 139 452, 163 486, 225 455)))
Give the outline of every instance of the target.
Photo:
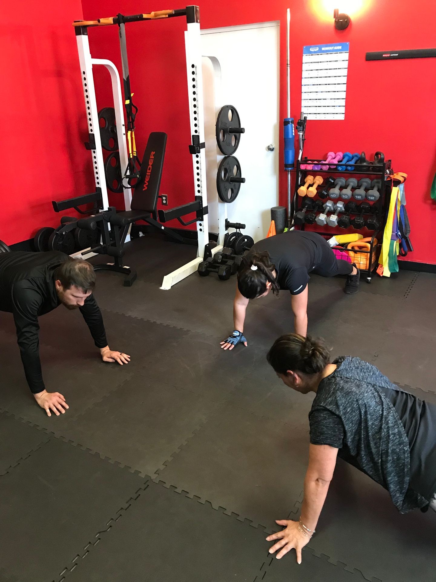
POLYGON ((92 191, 73 19, 80 0, 2 6, 0 239, 27 240, 57 226, 52 200, 92 191))

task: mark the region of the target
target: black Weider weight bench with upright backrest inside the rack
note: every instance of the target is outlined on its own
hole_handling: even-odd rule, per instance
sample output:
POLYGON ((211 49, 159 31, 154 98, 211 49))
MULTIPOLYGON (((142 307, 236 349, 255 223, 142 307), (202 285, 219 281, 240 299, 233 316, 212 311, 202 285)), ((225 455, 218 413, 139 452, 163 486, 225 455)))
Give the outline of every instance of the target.
MULTIPOLYGON (((163 231, 167 236, 176 242, 192 244, 193 240, 183 237, 173 229, 163 226, 162 223, 177 219, 182 225, 187 226, 194 222, 203 220, 208 209, 203 208, 201 197, 196 197, 195 201, 183 204, 170 210, 157 211, 160 179, 162 177, 163 161, 165 158, 167 134, 163 132, 152 132, 148 138, 144 157, 142 158, 140 178, 135 184, 133 196, 130 204, 131 210, 116 212, 110 207, 107 211, 89 218, 81 219, 81 228, 101 230, 102 243, 98 246, 84 251, 82 254, 98 253, 106 254, 114 258, 113 264, 94 265, 95 271, 106 270, 120 272, 126 275, 125 286, 133 285, 137 274, 135 269, 123 265, 124 243, 129 229, 137 222, 145 222, 146 225, 163 231), (195 212, 195 218, 185 222, 183 216, 195 212), (158 222, 158 216, 159 221, 158 222), (110 225, 110 228, 109 228, 110 225)), ((139 227, 141 230, 141 227, 139 227)))

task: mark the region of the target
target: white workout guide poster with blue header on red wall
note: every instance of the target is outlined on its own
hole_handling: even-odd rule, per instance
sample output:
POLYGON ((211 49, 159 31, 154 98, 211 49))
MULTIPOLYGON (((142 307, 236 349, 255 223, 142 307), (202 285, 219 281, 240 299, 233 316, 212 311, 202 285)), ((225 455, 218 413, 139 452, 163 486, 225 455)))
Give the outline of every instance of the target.
POLYGON ((308 119, 345 119, 349 42, 303 47, 301 110, 308 119))

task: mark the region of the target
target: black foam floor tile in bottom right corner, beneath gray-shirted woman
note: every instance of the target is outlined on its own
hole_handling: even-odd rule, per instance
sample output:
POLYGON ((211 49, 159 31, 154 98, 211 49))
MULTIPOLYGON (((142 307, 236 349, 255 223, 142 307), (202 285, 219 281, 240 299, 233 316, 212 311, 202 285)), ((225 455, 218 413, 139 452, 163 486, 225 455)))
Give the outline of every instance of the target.
POLYGON ((419 510, 402 515, 388 492, 338 460, 316 534, 315 553, 358 569, 367 580, 433 580, 436 515, 419 510))

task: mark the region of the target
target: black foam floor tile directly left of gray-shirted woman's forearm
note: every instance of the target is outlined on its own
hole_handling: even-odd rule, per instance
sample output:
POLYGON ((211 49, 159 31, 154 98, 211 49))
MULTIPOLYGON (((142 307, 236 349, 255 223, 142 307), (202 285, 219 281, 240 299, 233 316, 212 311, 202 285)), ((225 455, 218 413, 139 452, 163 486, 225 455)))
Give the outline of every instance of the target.
POLYGON ((307 427, 225 406, 160 478, 272 531, 277 530, 274 520, 286 519, 299 499, 308 451, 307 427))

